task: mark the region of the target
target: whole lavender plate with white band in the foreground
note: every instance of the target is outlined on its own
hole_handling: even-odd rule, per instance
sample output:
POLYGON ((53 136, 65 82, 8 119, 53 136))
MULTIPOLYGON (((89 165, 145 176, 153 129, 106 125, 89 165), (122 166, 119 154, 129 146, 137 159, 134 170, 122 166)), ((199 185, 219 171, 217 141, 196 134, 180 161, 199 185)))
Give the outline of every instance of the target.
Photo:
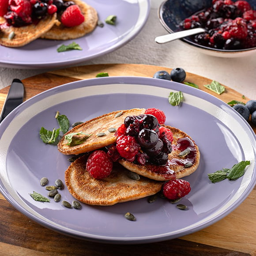
MULTIPOLYGON (((107 243, 149 243, 181 237, 201 230, 233 211, 256 184, 256 136, 252 128, 225 102, 201 90, 162 79, 143 77, 105 77, 81 80, 47 90, 24 102, 0 124, 0 192, 20 212, 39 224, 66 235, 107 243), (184 102, 169 104, 171 91, 182 91, 184 102), (57 128, 55 114, 60 111, 71 123, 85 121, 120 109, 135 107, 162 109, 166 124, 187 132, 201 152, 195 173, 185 177, 192 191, 181 199, 188 206, 177 209, 168 200, 147 198, 113 206, 83 204, 68 209, 51 199, 34 201, 29 193, 47 196, 41 177, 49 184, 64 180, 68 158, 55 145, 39 137, 43 126, 57 128), (245 175, 236 181, 211 183, 207 173, 231 168, 249 160, 245 175), (136 222, 124 218, 126 212, 136 222)), ((74 198, 67 188, 62 199, 74 198)))

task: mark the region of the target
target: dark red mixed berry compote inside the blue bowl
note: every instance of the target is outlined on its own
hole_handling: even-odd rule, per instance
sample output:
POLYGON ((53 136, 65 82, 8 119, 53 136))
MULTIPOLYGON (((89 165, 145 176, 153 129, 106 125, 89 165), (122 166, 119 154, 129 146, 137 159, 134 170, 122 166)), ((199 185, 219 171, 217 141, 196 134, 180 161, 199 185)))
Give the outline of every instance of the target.
POLYGON ((203 27, 207 31, 191 36, 200 45, 215 49, 256 47, 256 10, 244 0, 213 0, 212 6, 184 19, 181 30, 203 27))

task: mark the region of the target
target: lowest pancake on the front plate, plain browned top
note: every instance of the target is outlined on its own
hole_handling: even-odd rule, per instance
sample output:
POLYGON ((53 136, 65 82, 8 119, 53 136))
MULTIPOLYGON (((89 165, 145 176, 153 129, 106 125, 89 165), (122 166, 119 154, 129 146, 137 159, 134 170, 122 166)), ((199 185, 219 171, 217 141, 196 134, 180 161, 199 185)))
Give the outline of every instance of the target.
POLYGON ((72 162, 65 171, 65 183, 77 200, 91 205, 113 205, 154 195, 162 188, 162 182, 145 177, 133 180, 128 170, 113 164, 110 175, 102 180, 94 179, 86 170, 87 156, 72 162))

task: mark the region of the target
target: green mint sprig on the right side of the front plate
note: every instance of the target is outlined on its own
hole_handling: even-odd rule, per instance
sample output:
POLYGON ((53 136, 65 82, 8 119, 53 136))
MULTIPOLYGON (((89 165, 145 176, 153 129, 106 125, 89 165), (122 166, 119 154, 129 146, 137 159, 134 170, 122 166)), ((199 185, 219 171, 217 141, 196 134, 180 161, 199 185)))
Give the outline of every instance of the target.
POLYGON ((220 182, 225 179, 234 181, 245 174, 245 167, 249 164, 250 161, 241 161, 233 165, 231 169, 223 168, 222 170, 218 170, 215 173, 208 173, 208 177, 212 183, 220 182))

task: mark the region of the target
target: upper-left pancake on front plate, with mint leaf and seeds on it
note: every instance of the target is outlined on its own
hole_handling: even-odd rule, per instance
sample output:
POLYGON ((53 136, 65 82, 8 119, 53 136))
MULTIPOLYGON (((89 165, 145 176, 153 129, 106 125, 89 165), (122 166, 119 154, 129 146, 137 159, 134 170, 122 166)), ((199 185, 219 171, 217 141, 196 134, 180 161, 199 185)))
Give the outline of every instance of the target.
MULTIPOLYGON (((58 143, 58 150, 62 154, 80 154, 106 147, 117 140, 115 132, 109 132, 109 128, 117 129, 121 124, 124 123, 125 117, 138 116, 145 113, 145 111, 146 109, 119 110, 88 120, 83 124, 79 124, 78 126, 75 126, 69 130, 65 135, 73 132, 84 132, 86 134, 91 134, 91 136, 87 138, 83 143, 72 146, 67 145, 68 140, 65 139, 64 135, 58 143), (116 117, 118 113, 122 114, 116 117), (102 132, 105 133, 105 136, 97 136, 97 134, 102 132)), ((76 137, 79 138, 79 135, 76 137)))

